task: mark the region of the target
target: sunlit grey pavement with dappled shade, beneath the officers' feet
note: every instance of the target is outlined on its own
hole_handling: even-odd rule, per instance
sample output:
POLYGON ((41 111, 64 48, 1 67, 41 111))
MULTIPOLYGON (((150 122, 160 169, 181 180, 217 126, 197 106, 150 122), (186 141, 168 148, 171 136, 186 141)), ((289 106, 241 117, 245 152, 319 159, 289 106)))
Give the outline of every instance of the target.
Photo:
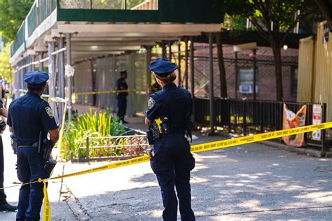
MULTIPOLYGON (((17 182, 8 131, 5 186, 17 182)), ((195 143, 218 140, 200 137, 195 143)), ((195 155, 192 204, 198 220, 329 220, 332 160, 249 144, 195 155)), ((54 175, 106 164, 58 164, 54 175)), ((18 187, 6 190, 17 204, 18 187)), ((162 200, 148 163, 54 180, 48 186, 52 220, 160 220, 162 200), (62 196, 60 197, 60 188, 62 196), (59 201, 60 199, 60 201, 59 201)), ((179 217, 178 217, 179 218, 179 217)), ((0 220, 14 220, 1 213, 0 220)))

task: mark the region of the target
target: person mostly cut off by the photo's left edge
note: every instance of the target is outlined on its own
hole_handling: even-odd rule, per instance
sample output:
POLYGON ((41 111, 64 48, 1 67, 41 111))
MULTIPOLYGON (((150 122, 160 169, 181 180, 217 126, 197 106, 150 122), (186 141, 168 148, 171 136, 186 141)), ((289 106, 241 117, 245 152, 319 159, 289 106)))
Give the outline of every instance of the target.
MULTIPOLYGON (((8 111, 4 108, 2 101, 0 101, 0 115, 7 117, 8 111)), ((6 122, 0 120, 0 188, 4 187, 4 143, 2 142, 1 134, 6 128, 6 122)), ((4 190, 0 190, 0 211, 15 211, 16 206, 11 206, 6 201, 6 194, 4 190)))

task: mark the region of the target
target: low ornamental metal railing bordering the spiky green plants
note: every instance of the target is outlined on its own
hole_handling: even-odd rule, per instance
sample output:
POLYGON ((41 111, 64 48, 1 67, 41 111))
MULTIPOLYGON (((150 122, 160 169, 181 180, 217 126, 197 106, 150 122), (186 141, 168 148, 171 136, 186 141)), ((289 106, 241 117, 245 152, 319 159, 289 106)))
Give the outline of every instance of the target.
POLYGON ((78 147, 78 157, 72 162, 90 162, 106 159, 130 159, 144 155, 148 148, 146 134, 129 136, 86 137, 78 147), (85 143, 83 146, 82 143, 85 143))

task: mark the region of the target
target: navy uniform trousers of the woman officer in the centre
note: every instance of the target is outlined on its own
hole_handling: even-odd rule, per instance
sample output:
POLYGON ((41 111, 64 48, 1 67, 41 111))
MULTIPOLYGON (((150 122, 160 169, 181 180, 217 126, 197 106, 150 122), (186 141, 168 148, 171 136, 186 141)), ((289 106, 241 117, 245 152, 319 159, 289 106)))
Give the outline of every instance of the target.
POLYGON ((160 186, 164 205, 162 218, 165 221, 177 220, 178 202, 181 220, 195 220, 191 209, 190 184, 190 173, 195 167, 195 159, 190 149, 191 146, 184 138, 184 134, 171 134, 155 139, 155 156, 151 158, 150 163, 160 186))

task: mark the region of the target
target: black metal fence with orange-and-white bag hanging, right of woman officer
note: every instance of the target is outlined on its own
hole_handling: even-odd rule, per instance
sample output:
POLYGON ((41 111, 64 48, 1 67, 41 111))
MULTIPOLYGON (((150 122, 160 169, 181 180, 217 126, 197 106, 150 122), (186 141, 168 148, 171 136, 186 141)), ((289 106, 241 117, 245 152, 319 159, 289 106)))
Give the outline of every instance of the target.
MULTIPOLYGON (((195 98, 195 123, 210 124, 209 99, 195 98)), ((223 127, 224 131, 237 134, 259 134, 282 129, 284 104, 296 113, 303 105, 307 105, 305 125, 312 124, 312 103, 254 101, 240 99, 214 99, 215 126, 223 127)), ((326 122, 326 104, 321 105, 321 122, 326 122)), ((305 134, 308 145, 325 147, 325 130, 321 141, 312 139, 312 133, 305 134)))

